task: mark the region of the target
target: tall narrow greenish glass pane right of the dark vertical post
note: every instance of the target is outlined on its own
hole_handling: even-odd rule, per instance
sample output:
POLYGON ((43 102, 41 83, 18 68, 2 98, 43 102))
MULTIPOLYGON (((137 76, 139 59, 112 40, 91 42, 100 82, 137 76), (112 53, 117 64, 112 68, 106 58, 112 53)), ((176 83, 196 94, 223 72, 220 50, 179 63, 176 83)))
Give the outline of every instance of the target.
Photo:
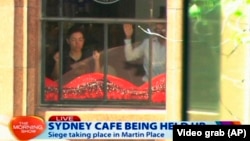
POLYGON ((220 1, 191 0, 188 14, 188 110, 215 112, 220 101, 220 1))

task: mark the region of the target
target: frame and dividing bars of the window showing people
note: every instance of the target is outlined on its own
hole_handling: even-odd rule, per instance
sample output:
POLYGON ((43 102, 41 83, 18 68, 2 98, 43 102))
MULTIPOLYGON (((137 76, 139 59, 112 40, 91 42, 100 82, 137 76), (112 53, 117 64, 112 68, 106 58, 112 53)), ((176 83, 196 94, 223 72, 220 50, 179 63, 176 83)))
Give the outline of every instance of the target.
MULTIPOLYGON (((41 9, 41 13, 42 13, 43 11, 42 11, 42 9, 41 9)), ((59 12, 59 13, 61 13, 61 12, 59 12)), ((53 21, 53 22, 58 22, 59 23, 59 27, 60 27, 60 30, 63 30, 63 28, 62 28, 62 25, 63 25, 63 23, 65 23, 65 22, 74 22, 74 23, 93 23, 93 24, 104 24, 104 37, 105 37, 105 39, 104 39, 104 52, 106 52, 107 53, 107 50, 108 50, 108 25, 109 24, 122 24, 122 23, 166 23, 166 19, 153 19, 153 18, 151 18, 151 19, 134 19, 134 18, 77 18, 77 17, 74 17, 74 18, 72 18, 72 17, 44 17, 44 16, 42 16, 41 18, 40 18, 40 22, 41 22, 41 33, 42 33, 42 36, 41 36, 41 45, 43 45, 44 44, 44 40, 45 40, 45 35, 44 35, 44 27, 43 27, 43 25, 45 25, 45 23, 46 22, 51 22, 51 21, 53 21)), ((60 45, 59 46, 62 46, 62 44, 63 44, 63 39, 62 39, 62 37, 63 37, 63 35, 62 35, 63 33, 61 33, 59 36, 60 36, 60 45)), ((167 44, 166 44, 167 45, 167 44)), ((45 56, 45 51, 44 51, 45 49, 42 49, 42 46, 41 46, 41 54, 42 54, 42 56, 45 56)), ((107 56, 107 55, 105 55, 105 56, 107 56)), ((42 58, 42 65, 41 65, 41 78, 45 78, 45 70, 44 70, 44 66, 45 66, 45 64, 44 64, 44 62, 45 62, 45 57, 43 57, 42 58)), ((105 63, 107 63, 107 57, 105 57, 105 63)), ((106 76, 107 76, 107 74, 108 74, 108 72, 107 72, 107 65, 104 65, 105 67, 104 67, 104 80, 106 80, 106 76)), ((149 81, 149 88, 151 88, 151 77, 150 77, 150 81, 149 81)), ((62 88, 62 81, 61 81, 61 79, 59 79, 60 81, 59 81, 59 88, 60 88, 60 90, 61 90, 61 88, 62 88)), ((43 81, 43 79, 41 79, 41 82, 44 82, 43 81)), ((106 81, 105 81, 106 82, 106 81)), ((65 102, 59 102, 59 103, 51 103, 51 102, 48 102, 48 103, 46 103, 46 102, 44 102, 43 101, 43 98, 44 98, 44 88, 45 88, 45 85, 44 85, 44 83, 41 83, 41 97, 40 97, 40 99, 39 99, 39 105, 40 106, 43 106, 43 107, 51 107, 51 106, 53 106, 53 107, 62 107, 62 106, 65 106, 65 107, 93 107, 93 106, 95 106, 96 107, 96 103, 93 103, 93 104, 91 104, 91 102, 90 102, 90 104, 91 105, 88 105, 87 103, 88 102, 86 102, 86 101, 79 101, 79 103, 78 102, 76 102, 76 101, 74 101, 73 100, 73 102, 74 103, 77 103, 77 104, 67 104, 68 102, 67 101, 65 101, 65 102), (84 103, 86 103, 86 104, 84 104, 84 106, 82 105, 82 102, 84 102, 84 103), (80 104, 81 103, 81 104, 80 104)), ((105 91, 106 91, 106 89, 105 89, 105 91)), ((149 93, 152 93, 152 89, 149 89, 149 93)), ((166 93, 166 91, 165 91, 165 93, 166 93)), ((151 98, 151 95, 152 94, 149 94, 149 99, 151 98)), ((103 99, 103 100, 105 100, 105 99, 103 99)), ((103 101, 102 100, 102 101, 103 101)), ((117 100, 116 101, 117 103, 119 103, 119 102, 121 102, 121 101, 119 101, 119 100, 117 100)), ((115 102, 115 103, 116 103, 115 102)), ((111 102, 112 103, 112 102, 111 102)), ((124 105, 120 105, 119 106, 119 104, 117 105, 117 104, 111 104, 111 105, 98 105, 98 107, 104 107, 104 108, 109 108, 109 107, 112 107, 112 108, 114 108, 114 106, 115 106, 115 108, 144 108, 145 109, 145 106, 148 106, 148 105, 150 105, 150 102, 145 102, 145 104, 141 104, 141 105, 137 105, 136 107, 133 107, 133 106, 129 106, 129 105, 133 105, 133 102, 125 102, 125 103, 127 103, 127 105, 126 106, 124 106, 124 105), (128 104, 129 103, 129 104, 128 104)), ((138 101, 138 102, 136 102, 136 103, 144 103, 144 102, 141 102, 141 101, 138 101)), ((164 103, 163 104, 164 106, 162 106, 162 104, 152 104, 151 103, 151 106, 148 106, 147 108, 149 108, 149 109, 165 109, 165 107, 166 107, 166 104, 164 103), (160 105, 160 106, 159 106, 160 105)), ((147 109, 146 108, 146 109, 147 109)))

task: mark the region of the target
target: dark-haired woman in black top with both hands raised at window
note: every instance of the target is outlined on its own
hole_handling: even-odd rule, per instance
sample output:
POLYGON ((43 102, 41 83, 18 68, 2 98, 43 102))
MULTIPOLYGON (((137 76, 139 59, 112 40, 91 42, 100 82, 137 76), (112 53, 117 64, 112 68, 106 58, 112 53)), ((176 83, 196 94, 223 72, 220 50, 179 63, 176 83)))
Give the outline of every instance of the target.
MULTIPOLYGON (((62 62, 62 73, 66 73, 70 71, 71 65, 82 61, 88 57, 93 57, 95 63, 95 71, 100 71, 100 54, 98 51, 84 47, 85 36, 81 27, 73 26, 67 32, 66 42, 69 46, 68 51, 64 51, 63 53, 63 62, 62 62)), ((55 65, 52 72, 52 77, 54 79, 58 79, 60 72, 60 56, 59 52, 55 53, 54 60, 55 65)))

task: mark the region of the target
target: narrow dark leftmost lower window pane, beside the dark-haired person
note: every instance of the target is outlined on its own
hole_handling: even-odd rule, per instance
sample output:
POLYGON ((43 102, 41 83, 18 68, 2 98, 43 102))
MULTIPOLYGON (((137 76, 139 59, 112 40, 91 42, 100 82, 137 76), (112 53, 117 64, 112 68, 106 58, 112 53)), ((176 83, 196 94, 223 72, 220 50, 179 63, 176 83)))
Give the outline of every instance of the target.
POLYGON ((54 81, 53 70, 55 66, 54 54, 59 51, 59 23, 57 22, 43 22, 43 39, 42 39, 42 53, 44 60, 44 99, 41 101, 57 101, 58 84, 54 81))

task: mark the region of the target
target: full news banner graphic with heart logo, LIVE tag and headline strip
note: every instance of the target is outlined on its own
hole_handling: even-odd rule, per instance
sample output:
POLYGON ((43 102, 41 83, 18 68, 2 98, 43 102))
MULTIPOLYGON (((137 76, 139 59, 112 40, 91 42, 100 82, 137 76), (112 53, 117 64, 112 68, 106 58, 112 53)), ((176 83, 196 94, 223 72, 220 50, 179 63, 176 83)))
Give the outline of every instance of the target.
POLYGON ((237 121, 83 121, 55 115, 48 121, 19 116, 9 128, 19 140, 30 139, 250 139, 250 125, 237 121))

